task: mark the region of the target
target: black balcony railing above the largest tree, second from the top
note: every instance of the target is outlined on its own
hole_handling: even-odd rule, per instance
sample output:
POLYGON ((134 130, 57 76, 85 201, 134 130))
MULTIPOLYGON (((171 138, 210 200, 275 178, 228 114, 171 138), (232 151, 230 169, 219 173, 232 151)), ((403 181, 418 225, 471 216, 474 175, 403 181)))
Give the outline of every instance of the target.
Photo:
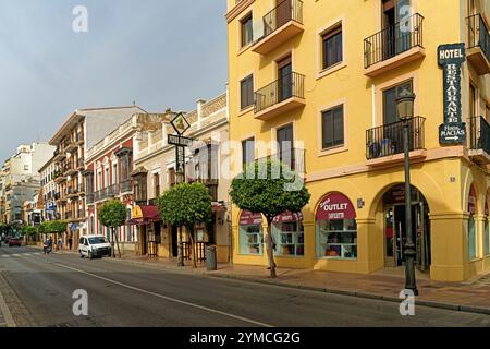
POLYGON ((305 98, 305 75, 286 74, 255 93, 255 112, 260 112, 289 98, 305 98))

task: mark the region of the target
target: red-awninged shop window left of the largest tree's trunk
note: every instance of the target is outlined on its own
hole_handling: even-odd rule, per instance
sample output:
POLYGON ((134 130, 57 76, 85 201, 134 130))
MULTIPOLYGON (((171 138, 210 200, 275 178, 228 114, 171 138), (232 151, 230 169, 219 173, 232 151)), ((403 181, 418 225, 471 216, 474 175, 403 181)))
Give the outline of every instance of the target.
POLYGON ((240 253, 262 254, 262 216, 247 210, 240 217, 240 253))

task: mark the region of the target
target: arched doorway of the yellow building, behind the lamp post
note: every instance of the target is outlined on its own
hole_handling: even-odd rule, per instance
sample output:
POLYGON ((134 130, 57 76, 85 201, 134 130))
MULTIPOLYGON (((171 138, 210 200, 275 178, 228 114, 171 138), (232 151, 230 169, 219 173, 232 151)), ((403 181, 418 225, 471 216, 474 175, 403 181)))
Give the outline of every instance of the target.
MULTIPOLYGON (((411 190, 412 231, 416 248, 416 266, 428 270, 431 263, 429 205, 424 195, 415 188, 411 190)), ((382 200, 384 212, 384 265, 402 266, 405 263, 405 189, 404 184, 394 185, 387 191, 382 200)))

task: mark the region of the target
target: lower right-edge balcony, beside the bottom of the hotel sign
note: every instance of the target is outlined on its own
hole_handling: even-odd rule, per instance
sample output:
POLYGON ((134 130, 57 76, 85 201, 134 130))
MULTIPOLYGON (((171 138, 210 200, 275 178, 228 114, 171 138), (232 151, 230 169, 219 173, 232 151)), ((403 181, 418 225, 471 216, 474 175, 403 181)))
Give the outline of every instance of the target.
POLYGON ((490 125, 483 117, 474 117, 469 121, 470 158, 480 164, 490 164, 490 125))

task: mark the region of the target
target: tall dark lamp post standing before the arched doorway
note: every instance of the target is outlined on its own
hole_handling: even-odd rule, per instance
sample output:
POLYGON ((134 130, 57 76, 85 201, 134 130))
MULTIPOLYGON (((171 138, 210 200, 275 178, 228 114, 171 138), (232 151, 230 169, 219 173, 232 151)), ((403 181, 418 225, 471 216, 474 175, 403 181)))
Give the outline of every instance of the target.
POLYGON ((409 121, 414 118, 414 100, 415 94, 408 89, 404 89, 396 98, 396 109, 399 118, 403 122, 403 152, 405 158, 405 289, 412 290, 414 294, 417 296, 418 289, 415 281, 416 251, 412 231, 412 190, 408 144, 409 121))

